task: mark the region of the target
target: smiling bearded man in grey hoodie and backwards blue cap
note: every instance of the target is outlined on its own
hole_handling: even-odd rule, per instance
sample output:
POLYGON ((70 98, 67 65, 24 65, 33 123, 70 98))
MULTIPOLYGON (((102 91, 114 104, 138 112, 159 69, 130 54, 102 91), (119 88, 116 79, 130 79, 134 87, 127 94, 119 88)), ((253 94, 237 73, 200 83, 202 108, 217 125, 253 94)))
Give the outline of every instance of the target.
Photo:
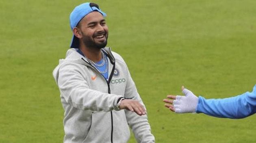
POLYGON ((106 14, 84 3, 70 14, 71 48, 53 75, 65 110, 65 143, 154 143, 150 124, 124 60, 105 47, 106 14), (129 125, 129 126, 128 126, 129 125))

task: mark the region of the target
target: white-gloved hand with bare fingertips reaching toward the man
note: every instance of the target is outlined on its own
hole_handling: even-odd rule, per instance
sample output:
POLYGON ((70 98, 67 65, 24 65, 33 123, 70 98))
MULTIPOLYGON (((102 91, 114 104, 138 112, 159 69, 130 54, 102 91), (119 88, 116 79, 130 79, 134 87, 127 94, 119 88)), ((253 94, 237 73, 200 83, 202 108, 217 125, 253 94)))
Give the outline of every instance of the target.
POLYGON ((168 103, 165 104, 165 107, 169 108, 175 113, 195 113, 195 109, 198 103, 198 97, 195 96, 190 90, 184 88, 184 86, 182 86, 182 93, 185 96, 167 95, 168 99, 163 99, 165 103, 168 103))

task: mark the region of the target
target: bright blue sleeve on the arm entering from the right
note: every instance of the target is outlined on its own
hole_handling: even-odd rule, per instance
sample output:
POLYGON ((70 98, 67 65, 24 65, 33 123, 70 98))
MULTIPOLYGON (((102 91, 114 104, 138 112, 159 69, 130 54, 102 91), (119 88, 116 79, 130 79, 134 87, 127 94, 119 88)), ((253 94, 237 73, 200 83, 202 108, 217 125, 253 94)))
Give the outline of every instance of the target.
POLYGON ((219 118, 240 119, 256 113, 256 85, 251 93, 224 99, 199 97, 196 113, 219 118))

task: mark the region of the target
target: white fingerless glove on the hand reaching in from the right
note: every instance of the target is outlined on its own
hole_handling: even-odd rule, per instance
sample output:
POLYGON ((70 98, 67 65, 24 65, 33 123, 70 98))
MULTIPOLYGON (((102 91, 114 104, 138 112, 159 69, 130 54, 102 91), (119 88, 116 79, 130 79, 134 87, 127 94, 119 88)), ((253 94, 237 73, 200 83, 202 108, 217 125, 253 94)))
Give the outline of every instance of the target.
POLYGON ((176 100, 173 101, 175 113, 195 113, 198 97, 186 88, 182 90, 182 93, 185 96, 177 95, 176 100))

